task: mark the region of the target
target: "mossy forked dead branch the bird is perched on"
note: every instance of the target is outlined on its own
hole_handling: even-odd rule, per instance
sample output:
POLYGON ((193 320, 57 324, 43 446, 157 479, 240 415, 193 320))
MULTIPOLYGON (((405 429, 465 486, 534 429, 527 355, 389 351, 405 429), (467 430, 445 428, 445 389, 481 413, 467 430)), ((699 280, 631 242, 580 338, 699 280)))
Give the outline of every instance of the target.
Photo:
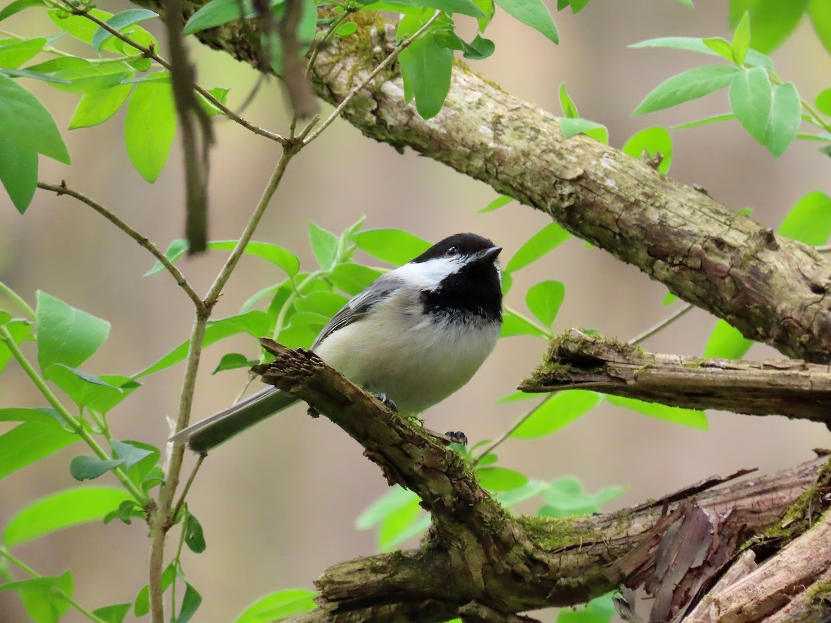
MULTIPOLYGON (((465 608, 507 616, 578 604, 619 583, 637 586, 647 581, 656 572, 656 552, 666 550, 664 534, 685 518, 701 518, 701 513, 717 518, 720 540, 711 542, 710 536, 696 542, 723 562, 748 537, 777 524, 784 510, 814 484, 821 464, 814 461, 717 489, 711 487, 725 478, 714 478, 618 513, 514 517, 479 487, 458 454, 420 425, 391 414, 311 352, 291 351, 268 339, 262 343, 276 359, 253 370, 346 430, 389 481, 418 493, 433 518, 417 550, 358 558, 327 569, 317 580, 321 608, 299 621, 445 621, 465 608)), ((701 587, 718 570, 714 563, 705 571, 676 572, 690 578, 689 586, 701 587)), ((666 584, 659 580, 652 584, 666 584)), ((675 576, 666 586, 676 585, 686 586, 675 576)))

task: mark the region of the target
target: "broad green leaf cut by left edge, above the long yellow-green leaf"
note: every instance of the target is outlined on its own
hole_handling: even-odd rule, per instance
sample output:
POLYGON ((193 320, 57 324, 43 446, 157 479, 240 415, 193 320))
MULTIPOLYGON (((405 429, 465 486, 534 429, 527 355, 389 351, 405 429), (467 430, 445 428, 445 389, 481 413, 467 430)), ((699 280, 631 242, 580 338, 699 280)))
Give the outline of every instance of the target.
POLYGON ((81 440, 50 410, 0 409, 0 421, 22 421, 0 434, 0 478, 81 440))

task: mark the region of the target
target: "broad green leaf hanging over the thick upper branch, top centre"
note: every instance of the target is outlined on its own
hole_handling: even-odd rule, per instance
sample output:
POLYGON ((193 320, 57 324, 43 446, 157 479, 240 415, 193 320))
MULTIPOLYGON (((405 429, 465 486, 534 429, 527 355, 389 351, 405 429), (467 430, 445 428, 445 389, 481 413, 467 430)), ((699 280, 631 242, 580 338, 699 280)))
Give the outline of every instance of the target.
MULTIPOLYGON (((398 24, 399 41, 414 34, 425 22, 420 13, 405 14, 398 24)), ((398 56, 404 80, 404 99, 409 102, 415 98, 416 110, 422 119, 439 114, 450 90, 453 51, 436 42, 435 33, 440 28, 437 23, 398 56)))

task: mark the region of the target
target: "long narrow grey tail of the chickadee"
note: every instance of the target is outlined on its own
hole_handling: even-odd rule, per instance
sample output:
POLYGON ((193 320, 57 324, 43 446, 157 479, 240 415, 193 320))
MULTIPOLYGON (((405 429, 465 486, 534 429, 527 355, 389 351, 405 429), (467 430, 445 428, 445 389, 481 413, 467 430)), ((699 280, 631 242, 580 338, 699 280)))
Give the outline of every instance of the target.
POLYGON ((288 405, 293 405, 297 400, 288 392, 267 387, 228 409, 180 430, 170 438, 170 441, 179 444, 187 443, 194 452, 208 452, 228 441, 235 434, 257 424, 261 419, 266 419, 269 415, 282 411, 288 405))

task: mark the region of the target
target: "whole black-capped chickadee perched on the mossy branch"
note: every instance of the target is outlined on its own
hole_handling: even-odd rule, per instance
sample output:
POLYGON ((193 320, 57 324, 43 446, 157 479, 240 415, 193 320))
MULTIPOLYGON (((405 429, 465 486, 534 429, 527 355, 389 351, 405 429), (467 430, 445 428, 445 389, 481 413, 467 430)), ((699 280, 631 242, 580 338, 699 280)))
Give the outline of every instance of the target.
MULTIPOLYGON (((386 272, 332 316, 312 344, 323 361, 401 415, 459 390, 494 349, 502 326, 502 250, 457 233, 386 272)), ((204 453, 297 402, 269 387, 171 438, 204 453)))

